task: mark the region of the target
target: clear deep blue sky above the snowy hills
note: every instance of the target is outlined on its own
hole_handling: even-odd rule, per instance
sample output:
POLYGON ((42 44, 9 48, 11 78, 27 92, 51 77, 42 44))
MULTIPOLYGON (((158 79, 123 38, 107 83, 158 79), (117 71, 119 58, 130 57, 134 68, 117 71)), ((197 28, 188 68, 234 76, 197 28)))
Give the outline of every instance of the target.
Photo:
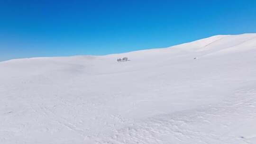
POLYGON ((0 61, 256 33, 256 0, 0 0, 0 61))

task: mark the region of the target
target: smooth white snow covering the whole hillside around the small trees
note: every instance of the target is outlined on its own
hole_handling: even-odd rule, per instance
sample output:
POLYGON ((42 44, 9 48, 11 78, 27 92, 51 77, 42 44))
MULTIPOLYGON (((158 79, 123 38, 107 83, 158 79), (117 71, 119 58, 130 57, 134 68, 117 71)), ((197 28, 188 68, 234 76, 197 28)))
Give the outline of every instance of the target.
POLYGON ((0 144, 256 144, 256 34, 1 62, 0 99, 0 144))

